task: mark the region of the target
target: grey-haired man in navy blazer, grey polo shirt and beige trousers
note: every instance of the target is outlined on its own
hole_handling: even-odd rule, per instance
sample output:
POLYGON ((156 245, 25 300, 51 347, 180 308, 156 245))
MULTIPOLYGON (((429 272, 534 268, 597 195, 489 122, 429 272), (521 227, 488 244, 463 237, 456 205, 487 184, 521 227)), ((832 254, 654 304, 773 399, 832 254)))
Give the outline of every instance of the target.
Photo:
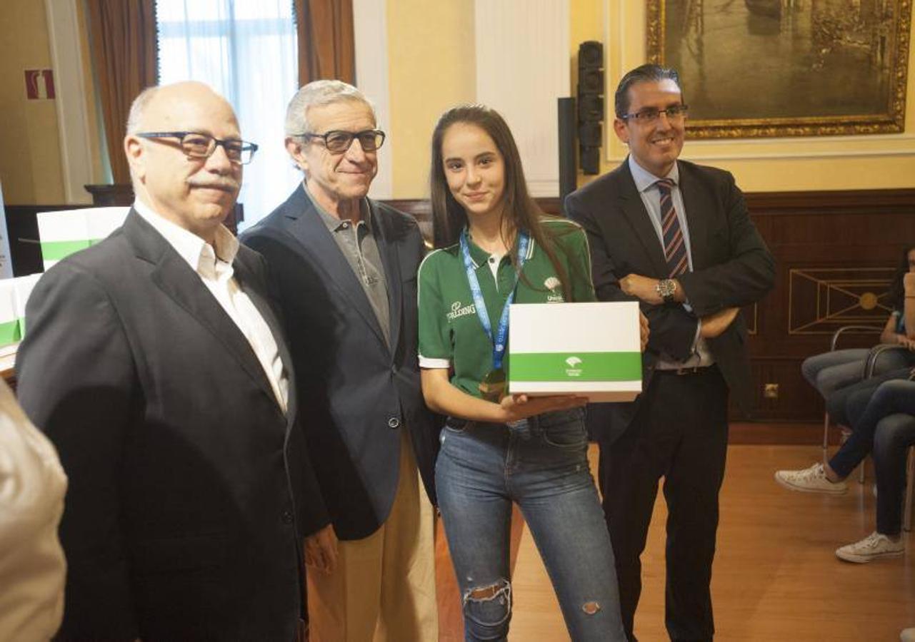
POLYGON ((299 90, 286 150, 305 181, 242 242, 270 266, 290 336, 309 452, 339 537, 339 564, 308 573, 311 635, 436 639, 437 435, 417 363, 414 219, 366 195, 384 140, 361 92, 299 90))

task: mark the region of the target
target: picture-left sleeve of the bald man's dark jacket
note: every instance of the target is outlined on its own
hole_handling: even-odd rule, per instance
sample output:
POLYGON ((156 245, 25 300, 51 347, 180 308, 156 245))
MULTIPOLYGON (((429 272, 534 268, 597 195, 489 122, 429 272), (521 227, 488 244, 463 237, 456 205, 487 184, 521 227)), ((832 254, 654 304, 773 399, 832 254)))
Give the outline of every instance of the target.
POLYGON ((136 386, 123 326, 102 285, 70 262, 38 281, 26 320, 16 358, 19 402, 70 478, 60 524, 68 565, 60 634, 133 640, 120 487, 129 474, 123 451, 136 386))

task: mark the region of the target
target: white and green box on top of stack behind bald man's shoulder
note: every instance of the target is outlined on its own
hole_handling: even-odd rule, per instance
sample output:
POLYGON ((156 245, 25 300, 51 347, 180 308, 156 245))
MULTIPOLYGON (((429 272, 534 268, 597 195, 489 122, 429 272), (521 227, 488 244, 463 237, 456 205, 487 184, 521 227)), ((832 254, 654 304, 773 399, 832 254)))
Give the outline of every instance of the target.
POLYGON ((124 224, 128 211, 129 207, 89 207, 39 212, 38 238, 45 270, 107 237, 124 224))

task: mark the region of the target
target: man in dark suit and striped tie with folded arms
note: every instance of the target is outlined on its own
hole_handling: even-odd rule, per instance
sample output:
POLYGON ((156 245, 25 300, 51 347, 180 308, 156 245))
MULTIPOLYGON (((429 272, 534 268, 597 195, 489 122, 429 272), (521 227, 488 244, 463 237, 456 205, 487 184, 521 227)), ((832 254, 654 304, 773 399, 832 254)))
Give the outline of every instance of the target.
POLYGON ((614 130, 630 156, 565 202, 587 231, 597 298, 640 300, 651 329, 642 394, 631 404, 592 406, 588 417, 632 640, 640 553, 662 476, 668 633, 674 640, 715 633, 709 582, 727 398, 733 393, 747 408, 752 395, 738 310, 761 299, 774 277, 731 174, 677 160, 685 111, 672 69, 645 65, 626 74, 614 130))

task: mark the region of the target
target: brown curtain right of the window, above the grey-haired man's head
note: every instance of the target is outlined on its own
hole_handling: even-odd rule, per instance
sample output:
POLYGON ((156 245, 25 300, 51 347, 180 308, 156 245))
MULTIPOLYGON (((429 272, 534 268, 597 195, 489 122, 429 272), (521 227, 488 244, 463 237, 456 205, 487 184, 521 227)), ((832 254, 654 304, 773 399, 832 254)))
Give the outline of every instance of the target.
POLYGON ((298 31, 298 81, 356 79, 352 0, 294 0, 298 31))

